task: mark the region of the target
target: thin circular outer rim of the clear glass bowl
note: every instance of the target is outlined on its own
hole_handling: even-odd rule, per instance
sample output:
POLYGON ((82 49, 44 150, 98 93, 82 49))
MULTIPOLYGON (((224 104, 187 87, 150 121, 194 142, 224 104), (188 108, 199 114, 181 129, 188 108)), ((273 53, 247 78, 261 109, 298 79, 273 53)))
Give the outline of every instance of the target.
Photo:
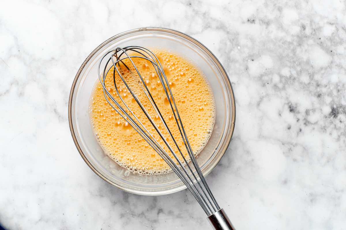
POLYGON ((169 29, 169 28, 163 28, 163 27, 141 27, 141 28, 137 28, 137 29, 132 29, 132 30, 127 30, 121 33, 116 34, 115 36, 112 36, 111 38, 107 39, 106 41, 102 42, 99 46, 97 46, 90 54, 89 56, 84 60, 84 62, 81 64, 78 72, 76 73, 72 86, 71 86, 71 90, 70 90, 70 96, 69 96, 69 107, 68 107, 68 116, 69 116, 69 125, 70 125, 70 131, 71 131, 71 135, 74 141, 74 144, 79 152, 79 154, 81 155, 81 157, 83 158, 83 160, 85 161, 86 164, 88 164, 88 166, 91 168, 92 171, 94 171, 94 173, 96 173, 100 178, 102 178, 104 181, 108 182, 109 184, 111 184, 114 187, 117 187, 125 192, 130 192, 133 194, 138 194, 138 195, 145 195, 145 196, 158 196, 158 195, 167 195, 167 194, 171 194, 171 193, 175 193, 181 190, 186 189, 187 187, 185 186, 185 184, 181 187, 177 187, 174 189, 169 189, 166 191, 159 191, 159 192, 146 192, 145 194, 142 191, 137 191, 134 189, 129 189, 126 188, 124 186, 121 186, 120 184, 114 183, 111 180, 109 180, 108 178, 104 177, 103 174, 101 174, 97 169, 95 169, 92 164, 89 162, 89 160, 85 157, 81 147, 79 146, 79 143, 77 141, 77 138, 75 136, 75 132, 74 132, 74 128, 73 128, 73 124, 72 124, 72 98, 73 98, 73 92, 76 86, 76 82, 80 76, 80 73, 82 72, 83 68, 85 67, 86 63, 91 59, 91 57, 99 50, 101 49, 105 44, 107 44, 108 42, 110 42, 111 40, 120 38, 124 35, 130 34, 130 33, 134 33, 134 32, 138 32, 138 31, 162 31, 162 32, 168 32, 168 33, 172 33, 178 36, 181 36, 185 39, 188 39, 189 41, 193 42, 194 44, 196 44, 197 46, 199 46, 200 48, 202 48, 211 58, 212 60, 215 62, 215 64, 217 64, 217 66, 220 68, 222 74, 224 74, 227 77, 229 86, 230 86, 230 96, 231 96, 231 111, 232 111, 232 115, 231 115, 231 121, 230 121, 230 129, 231 132, 229 133, 225 143, 226 143, 226 148, 224 148, 223 150, 221 150, 221 156, 219 157, 219 159, 216 161, 216 163, 214 165, 212 165, 212 167, 210 167, 203 175, 204 177, 206 177, 216 166, 217 164, 220 162, 221 158, 224 156, 226 150, 228 149, 229 143, 231 141, 231 138, 233 136, 234 133, 234 128, 235 128, 235 119, 236 119, 236 105, 235 105, 235 97, 234 97, 234 91, 233 91, 233 87, 232 84, 229 80, 228 74, 225 70, 225 68, 222 66, 222 64, 220 63, 220 61, 216 58, 216 56, 206 47, 204 46, 201 42, 199 42, 198 40, 192 38, 191 36, 189 36, 188 34, 185 34, 183 32, 177 31, 177 30, 173 30, 173 29, 169 29))

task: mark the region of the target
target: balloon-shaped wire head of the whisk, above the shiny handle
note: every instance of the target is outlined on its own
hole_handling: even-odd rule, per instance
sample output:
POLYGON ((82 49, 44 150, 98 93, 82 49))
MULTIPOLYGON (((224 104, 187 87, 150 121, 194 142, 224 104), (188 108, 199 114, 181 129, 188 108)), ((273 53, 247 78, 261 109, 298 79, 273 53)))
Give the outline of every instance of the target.
POLYGON ((195 159, 177 109, 177 104, 173 97, 170 83, 158 57, 151 50, 144 47, 118 47, 115 50, 107 52, 102 57, 99 63, 98 74, 103 87, 104 97, 110 106, 116 110, 123 119, 125 119, 126 124, 135 129, 136 132, 138 132, 139 135, 157 152, 157 154, 162 157, 162 159, 191 191, 208 216, 219 211, 220 207, 211 193, 195 159), (105 58, 106 64, 104 68, 101 69, 102 60, 105 58), (147 82, 136 67, 134 59, 137 58, 145 59, 149 66, 154 68, 156 76, 160 81, 160 86, 162 87, 163 96, 166 97, 171 108, 172 117, 174 118, 179 130, 181 140, 177 140, 177 137, 173 136, 163 114, 160 112, 160 109, 151 93, 151 89, 149 89, 147 82), (124 76, 125 71, 130 72, 131 76, 136 78, 136 80, 129 83, 129 79, 126 79, 124 76), (107 76, 112 76, 113 78, 113 85, 115 87, 115 91, 113 92, 106 87, 105 82, 107 76), (119 89, 119 83, 117 83, 116 78, 121 79, 121 82, 129 92, 129 96, 132 97, 133 102, 138 104, 148 122, 143 122, 143 119, 140 119, 138 114, 135 114, 133 110, 131 110, 124 99, 124 94, 121 93, 119 89), (135 90, 134 87, 131 87, 131 84, 133 83, 139 84, 141 90, 138 91, 135 90), (139 97, 139 95, 141 95, 141 97, 139 97), (153 129, 149 129, 148 126, 152 126, 155 133, 153 133, 153 129), (167 141, 169 139, 172 140, 171 143, 167 141), (184 149, 179 147, 178 143, 184 143, 184 149), (189 157, 185 157, 183 152, 187 152, 189 157), (189 161, 191 161, 190 164, 189 161))

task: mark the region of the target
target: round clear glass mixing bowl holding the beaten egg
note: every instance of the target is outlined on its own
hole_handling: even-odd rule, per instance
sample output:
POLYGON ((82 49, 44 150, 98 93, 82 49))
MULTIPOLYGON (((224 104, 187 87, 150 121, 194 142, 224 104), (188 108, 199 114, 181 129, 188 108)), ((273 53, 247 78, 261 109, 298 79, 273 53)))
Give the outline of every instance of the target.
POLYGON ((88 107, 92 88, 98 80, 101 57, 116 47, 130 45, 161 47, 193 60, 212 87, 216 102, 216 122, 212 135, 197 157, 206 176, 224 155, 234 130, 235 101, 227 73, 217 58, 199 41, 179 31, 139 28, 120 33, 98 46, 85 59, 73 81, 69 100, 70 129, 84 161, 102 179, 127 192, 163 195, 186 188, 174 172, 159 175, 129 173, 111 160, 99 146, 92 131, 88 107))

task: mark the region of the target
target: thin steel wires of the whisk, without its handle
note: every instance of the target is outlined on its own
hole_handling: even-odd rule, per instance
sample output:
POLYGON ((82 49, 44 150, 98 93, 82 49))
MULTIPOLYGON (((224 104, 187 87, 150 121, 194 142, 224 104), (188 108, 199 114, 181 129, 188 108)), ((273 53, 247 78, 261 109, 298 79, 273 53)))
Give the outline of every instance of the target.
POLYGON ((125 119, 126 122, 128 122, 130 124, 131 127, 133 127, 137 133, 140 134, 140 136, 163 158, 163 160, 172 168, 172 170, 177 174, 177 176, 183 181, 183 183, 186 185, 186 187, 191 191, 191 193, 193 194, 193 196, 195 197, 195 199, 198 201, 198 203, 200 204, 200 206, 202 207, 202 209, 204 210, 204 212, 206 212, 206 214, 208 216, 210 216, 213 211, 211 210, 211 208, 216 212, 217 210, 220 210, 220 207, 218 206, 218 203, 216 202, 213 194, 210 191, 210 188, 208 187, 208 184, 206 183, 204 176, 198 166, 198 163, 194 157, 191 145, 189 143, 188 137, 186 135, 186 132, 184 130, 182 121, 180 119, 180 115, 179 112, 177 110, 177 106, 176 103, 174 101, 174 97, 173 97, 173 93, 171 91, 170 85, 169 85, 169 81, 165 75, 165 72, 163 71, 162 65, 160 63, 160 61, 158 60, 158 58, 155 56, 155 54, 153 52, 151 52, 150 50, 144 48, 144 47, 139 47, 139 46, 130 46, 130 47, 125 47, 125 48, 117 48, 116 50, 112 50, 109 51, 108 53, 106 53, 103 58, 101 59, 100 63, 99 63, 99 79, 101 81, 102 87, 103 87, 103 93, 104 96, 107 100, 107 102, 111 105, 111 107, 113 109, 116 110, 116 112, 118 112, 120 114, 120 116, 125 119), (140 51, 139 51, 140 50, 140 51), (133 51, 133 52, 137 52, 142 56, 130 56, 127 52, 128 51, 133 51), (101 75, 100 75, 100 66, 101 66, 101 62, 102 60, 109 54, 112 53, 111 57, 108 59, 104 70, 103 70, 103 77, 101 79, 101 75), (120 54, 118 55, 118 52, 120 52, 120 54), (146 53, 148 56, 150 56, 150 58, 145 55, 144 53, 146 53), (121 58, 122 55, 124 55, 126 57, 121 58), (116 61, 113 59, 113 57, 116 58, 116 61), (133 62, 132 58, 144 58, 147 61, 149 61, 156 73, 157 76, 160 79, 160 82, 162 84, 162 87, 164 89, 164 92, 166 94, 166 97, 169 101, 170 107, 172 109, 173 112, 173 116, 174 119, 176 121, 176 124, 178 126, 180 135, 182 137, 182 140, 184 142, 186 151, 189 154, 189 157, 191 159, 191 162, 195 168, 195 171, 197 172, 197 175, 193 172, 192 168, 190 167, 188 161, 186 160, 186 158, 184 157, 183 153, 181 152, 175 138, 173 137, 173 134, 171 133, 169 127, 167 126, 160 110, 157 107, 157 104, 155 103, 154 98, 152 97, 152 94, 150 93, 149 89, 147 88, 144 79, 142 78, 140 72, 138 71, 135 63, 133 62), (147 99, 149 100, 149 102, 151 103, 152 107, 154 108, 155 112, 157 113, 158 117, 160 118, 160 120, 162 121, 162 123, 164 124, 165 129, 167 130, 167 132, 169 133, 171 139, 173 140, 177 150, 179 151, 179 153, 182 156, 182 159, 184 161, 184 163, 181 162, 181 160, 177 157, 176 153, 174 152, 174 150, 172 149, 172 147, 170 146, 170 144, 166 141, 166 138, 164 137, 164 135, 162 134, 162 132, 160 131, 160 129, 158 129, 156 123, 153 121, 153 119, 151 118, 151 116, 149 115, 148 111, 144 108, 143 104, 140 102, 139 98, 136 96, 136 94, 131 90, 131 88, 128 86, 126 80, 122 77, 121 72, 118 70, 118 67, 120 67, 120 63, 124 64, 124 66, 130 70, 130 68, 124 63, 124 59, 129 59, 131 64, 133 65, 134 69, 136 70, 140 81, 138 81, 138 83, 140 84, 143 92, 145 93, 147 99), (112 66, 110 66, 107 70, 107 66, 109 64, 109 62, 112 62, 112 66), (117 67, 118 64, 118 67, 117 67), (134 119, 128 114, 128 112, 126 111, 126 109, 122 108, 122 106, 117 102, 117 100, 111 95, 111 93, 106 89, 105 86, 105 81, 106 81, 106 77, 107 74, 109 73, 109 71, 111 70, 111 68, 113 68, 113 83, 114 86, 116 88, 116 92, 118 94, 118 97, 120 98, 121 102, 125 105, 126 109, 131 113, 131 115, 134 117, 134 119), (107 71, 106 71, 107 70, 107 71), (124 82, 126 88, 129 90, 129 92, 131 93, 131 95, 133 96, 133 98, 135 99, 135 101, 137 102, 138 106, 140 107, 140 109, 143 111, 143 113, 145 114, 146 118, 149 120, 149 122, 152 124, 152 126, 154 127, 155 131, 157 132, 157 134, 160 136, 160 138, 163 140, 163 142, 165 143, 166 147, 169 149, 169 151, 172 153, 174 159, 176 160, 176 162, 174 162, 171 157, 169 156, 169 154, 167 154, 167 152, 163 149, 163 147, 157 142, 157 140, 153 137, 153 135, 148 131, 148 129, 144 126, 144 124, 135 116, 135 114, 131 111, 131 109, 127 106, 126 102, 124 101, 124 99, 121 97, 121 94, 118 91, 118 87, 116 84, 116 80, 115 80, 115 76, 116 76, 116 72, 118 73, 118 75, 120 76, 122 82, 124 82), (144 87, 143 87, 144 86, 144 87), (168 91, 167 91, 168 89, 168 91), (113 104, 112 102, 109 101, 109 99, 118 107, 118 110, 113 104), (172 101, 171 101, 172 100, 172 101), (174 105, 174 107, 173 107, 174 105), (175 113, 176 112, 176 113, 175 113), (138 123, 139 124, 138 124, 138 123), (193 179, 190 176, 190 173, 188 171, 186 171, 184 164, 187 166, 188 170, 191 172, 193 179), (202 184, 198 181, 198 178, 201 180, 202 184), (196 187, 195 183, 197 183, 199 185, 199 188, 196 187), (201 193, 201 191, 202 193, 201 193), (205 191, 206 190, 206 191, 205 191), (208 195, 210 197, 208 197, 208 195), (204 195, 204 196, 203 196, 204 195), (204 198, 205 197, 205 198, 204 198), (206 200, 207 199, 207 200, 206 200), (210 204, 208 204, 208 202, 210 204))

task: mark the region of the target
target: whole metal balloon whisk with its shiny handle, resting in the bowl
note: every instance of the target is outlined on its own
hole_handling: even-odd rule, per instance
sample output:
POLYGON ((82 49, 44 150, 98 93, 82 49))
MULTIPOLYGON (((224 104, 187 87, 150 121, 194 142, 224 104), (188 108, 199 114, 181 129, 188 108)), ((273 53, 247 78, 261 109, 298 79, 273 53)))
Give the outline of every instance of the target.
MULTIPOLYGON (((129 64, 129 63, 128 63, 129 64)), ((111 73, 111 72, 110 72, 111 73)), ((159 59, 156 57, 156 55, 150 51, 147 48, 140 47, 140 46, 128 46, 124 48, 116 48, 115 50, 111 50, 107 52, 102 59, 100 60, 99 66, 98 66, 98 74, 99 79, 103 87, 103 93, 104 97, 106 98, 107 102, 110 104, 110 106, 115 109, 122 118, 125 119, 128 124, 133 127, 139 135, 157 152, 157 154, 162 157, 162 159, 171 167, 171 169, 177 174, 177 176, 182 180, 182 182, 185 184, 185 186, 190 190, 194 198, 197 200, 197 202, 202 207, 203 211, 207 214, 208 220, 215 230, 234 230, 232 223, 228 219, 225 211, 220 208, 219 204, 217 203, 216 199, 214 198, 206 180, 204 179, 204 176, 201 172, 200 167, 198 166, 198 163, 195 159, 195 156, 193 154, 193 151, 191 149, 191 145, 189 143, 188 137, 186 136, 186 132, 184 130, 183 123, 180 119, 180 115, 176 106, 176 103, 174 101, 174 97, 170 88, 169 81, 167 80, 166 74, 163 70, 163 67, 159 61, 159 59), (107 58, 110 55, 110 57, 107 58), (106 58, 106 64, 101 69, 101 63, 103 59, 106 58), (182 138, 182 142, 185 145, 186 151, 189 154, 190 160, 192 162, 192 165, 188 163, 188 159, 186 159, 181 151, 181 149, 178 146, 178 142, 175 140, 175 138, 172 135, 172 132, 170 128, 167 126, 167 123, 162 116, 159 108, 157 107, 157 104, 152 97, 151 92, 149 91, 143 77, 141 76, 141 73, 138 71, 133 58, 141 58, 147 60, 149 64, 153 66, 153 68, 156 71, 156 74, 158 78, 160 79, 161 86, 164 90, 165 96, 169 98, 169 104, 173 113, 173 117, 175 119, 177 128, 179 129, 180 136, 182 138), (152 108, 155 110, 155 113, 157 114, 158 118, 160 118, 165 130, 169 133, 169 137, 173 140, 173 143, 177 149, 176 151, 173 150, 173 147, 171 144, 167 141, 166 137, 162 133, 162 131, 158 128, 158 125, 155 123, 154 119, 150 116, 148 113, 148 108, 145 108, 143 103, 140 101, 138 95, 136 92, 131 90, 131 87, 126 82, 126 79, 121 74, 121 68, 127 68, 128 71, 130 71, 130 68, 125 64, 124 60, 128 59, 130 64, 132 65, 131 69, 134 69, 134 73, 136 76, 138 76, 138 84, 140 84, 141 89, 143 90, 145 97, 150 102, 149 104, 152 106, 152 108), (123 65, 123 67, 120 66, 120 64, 123 65), (120 70, 119 70, 120 69, 120 70), (112 93, 109 92, 106 88, 105 81, 108 73, 112 71, 113 72, 113 84, 115 86, 116 93, 118 95, 118 99, 115 99, 112 96, 112 93), (102 75, 101 75, 102 74, 102 75), (122 80, 122 82, 125 84, 127 90, 131 94, 131 96, 135 99, 140 109, 145 114, 145 117, 149 120, 150 124, 154 127, 155 131, 157 132, 158 136, 162 139, 164 146, 169 149, 169 152, 171 153, 171 156, 173 156, 173 159, 170 157, 170 154, 168 154, 163 146, 159 143, 158 140, 156 140, 153 136, 153 133, 149 132, 148 127, 146 127, 134 114, 134 112, 129 108, 125 100, 122 98, 121 93, 119 92, 119 86, 117 86, 116 83, 116 76, 119 76, 122 80), (119 100, 120 101, 117 101, 119 100), (125 106, 125 107, 124 107, 125 106), (178 157, 179 154, 181 155, 181 159, 178 157)), ((156 118, 157 118, 156 116, 156 118)))

